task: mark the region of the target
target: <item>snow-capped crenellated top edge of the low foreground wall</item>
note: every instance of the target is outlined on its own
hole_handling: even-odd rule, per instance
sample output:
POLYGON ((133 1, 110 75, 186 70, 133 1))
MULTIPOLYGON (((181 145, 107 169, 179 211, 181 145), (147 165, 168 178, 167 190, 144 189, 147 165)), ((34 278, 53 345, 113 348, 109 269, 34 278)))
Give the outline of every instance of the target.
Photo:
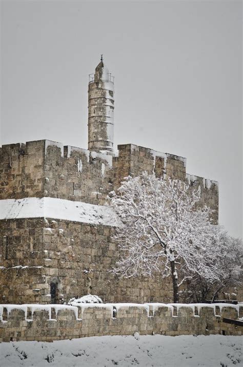
MULTIPOLYGON (((123 317, 124 314, 130 317, 135 314, 146 315, 147 317, 156 316, 161 311, 166 312, 167 315, 174 317, 185 316, 185 314, 196 316, 205 315, 205 311, 212 310, 213 315, 220 317, 226 312, 233 312, 236 318, 242 316, 243 304, 228 304, 228 303, 73 303, 72 305, 65 304, 0 304, 0 321, 4 320, 4 314, 7 319, 12 319, 12 313, 14 317, 21 317, 23 320, 32 320, 34 314, 42 314, 42 311, 46 312, 44 317, 47 320, 53 319, 51 317, 52 312, 58 319, 58 313, 65 311, 67 318, 68 315, 74 315, 76 320, 79 320, 79 315, 89 314, 95 318, 96 313, 106 311, 106 315, 110 315, 111 318, 123 317), (32 315, 31 318, 27 317, 27 314, 32 315)), ((89 317, 90 318, 90 317, 89 317)))

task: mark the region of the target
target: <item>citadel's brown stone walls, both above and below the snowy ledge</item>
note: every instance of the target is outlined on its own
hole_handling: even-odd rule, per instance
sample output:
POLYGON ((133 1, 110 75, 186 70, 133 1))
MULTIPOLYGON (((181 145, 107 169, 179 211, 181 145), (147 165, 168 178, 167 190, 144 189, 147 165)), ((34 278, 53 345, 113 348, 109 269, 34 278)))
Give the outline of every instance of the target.
MULTIPOLYGON (((119 145, 118 157, 112 157, 47 140, 4 145, 0 155, 0 200, 51 197, 103 205, 124 177, 147 170, 162 179, 188 180, 192 188, 200 185, 200 205, 215 209, 217 223, 217 183, 186 176, 183 157, 132 144, 119 145)), ((89 292, 109 302, 172 300, 169 279, 118 280, 107 272, 118 259, 111 241, 112 225, 57 220, 55 216, 45 220, 44 215, 6 218, 0 221, 2 302, 50 303, 52 280, 58 284, 59 300, 89 292)))

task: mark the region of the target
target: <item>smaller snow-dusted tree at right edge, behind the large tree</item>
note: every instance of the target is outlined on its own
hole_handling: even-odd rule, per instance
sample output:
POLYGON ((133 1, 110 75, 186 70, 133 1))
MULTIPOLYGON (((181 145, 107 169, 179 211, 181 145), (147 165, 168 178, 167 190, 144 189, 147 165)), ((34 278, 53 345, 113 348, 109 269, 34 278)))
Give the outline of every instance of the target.
POLYGON ((192 275, 188 281, 187 300, 190 302, 205 302, 209 299, 213 302, 225 288, 235 287, 242 282, 242 241, 229 236, 225 230, 219 228, 219 241, 217 244, 212 243, 212 246, 215 245, 224 256, 216 259, 213 278, 202 278, 198 273, 192 275))

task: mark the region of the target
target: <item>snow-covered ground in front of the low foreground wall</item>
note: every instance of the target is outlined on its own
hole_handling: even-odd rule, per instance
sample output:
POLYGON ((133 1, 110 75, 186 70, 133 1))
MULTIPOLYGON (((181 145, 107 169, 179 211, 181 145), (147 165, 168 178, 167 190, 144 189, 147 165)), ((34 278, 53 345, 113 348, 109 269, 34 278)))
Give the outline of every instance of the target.
POLYGON ((239 336, 102 336, 0 344, 0 366, 230 367, 243 363, 239 336))

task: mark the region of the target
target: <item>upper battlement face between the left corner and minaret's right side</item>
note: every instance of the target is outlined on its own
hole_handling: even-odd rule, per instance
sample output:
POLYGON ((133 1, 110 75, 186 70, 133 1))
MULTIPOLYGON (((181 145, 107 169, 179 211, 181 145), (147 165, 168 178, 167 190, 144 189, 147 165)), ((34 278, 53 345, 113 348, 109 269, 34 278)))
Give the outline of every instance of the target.
POLYGON ((105 204, 113 189, 113 158, 104 153, 64 146, 48 146, 44 196, 90 204, 105 204))

